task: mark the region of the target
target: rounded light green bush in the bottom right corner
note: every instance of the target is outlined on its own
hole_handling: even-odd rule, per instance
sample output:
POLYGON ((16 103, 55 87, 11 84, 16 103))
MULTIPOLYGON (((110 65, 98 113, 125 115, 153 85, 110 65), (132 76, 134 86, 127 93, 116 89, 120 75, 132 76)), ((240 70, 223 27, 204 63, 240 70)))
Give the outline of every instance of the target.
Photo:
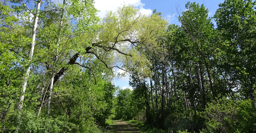
POLYGON ((255 113, 251 101, 222 98, 207 105, 204 132, 255 132, 255 113))

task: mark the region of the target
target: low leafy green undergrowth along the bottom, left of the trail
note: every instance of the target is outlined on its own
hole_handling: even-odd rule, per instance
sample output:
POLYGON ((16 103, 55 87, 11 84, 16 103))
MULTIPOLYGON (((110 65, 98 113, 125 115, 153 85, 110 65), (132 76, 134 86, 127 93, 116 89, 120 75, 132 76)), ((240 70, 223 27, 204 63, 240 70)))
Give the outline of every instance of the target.
POLYGON ((67 115, 58 116, 57 118, 38 117, 33 111, 8 112, 3 132, 95 132, 100 130, 90 121, 70 121, 67 115))

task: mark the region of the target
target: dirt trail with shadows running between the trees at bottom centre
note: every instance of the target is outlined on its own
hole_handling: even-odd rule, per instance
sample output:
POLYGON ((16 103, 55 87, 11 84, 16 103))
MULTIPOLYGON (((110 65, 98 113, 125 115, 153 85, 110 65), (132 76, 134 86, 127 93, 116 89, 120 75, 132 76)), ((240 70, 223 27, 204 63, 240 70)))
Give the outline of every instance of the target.
POLYGON ((115 120, 115 123, 111 127, 114 133, 139 133, 139 130, 131 127, 125 121, 115 120))

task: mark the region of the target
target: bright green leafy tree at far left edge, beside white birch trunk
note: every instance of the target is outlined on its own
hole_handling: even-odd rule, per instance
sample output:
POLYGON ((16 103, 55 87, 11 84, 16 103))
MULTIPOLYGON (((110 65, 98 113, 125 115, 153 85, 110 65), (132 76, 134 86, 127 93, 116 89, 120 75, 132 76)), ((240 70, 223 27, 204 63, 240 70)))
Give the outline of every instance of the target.
POLYGON ((24 52, 17 47, 23 47, 30 40, 26 30, 20 26, 7 1, 0 1, 0 120, 1 130, 5 130, 8 114, 17 104, 19 86, 22 82, 24 52))

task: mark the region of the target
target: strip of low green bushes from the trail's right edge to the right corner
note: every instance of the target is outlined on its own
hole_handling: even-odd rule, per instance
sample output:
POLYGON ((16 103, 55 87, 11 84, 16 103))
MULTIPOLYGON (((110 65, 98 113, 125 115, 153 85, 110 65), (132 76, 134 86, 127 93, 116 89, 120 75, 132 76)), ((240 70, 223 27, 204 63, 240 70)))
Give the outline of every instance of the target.
MULTIPOLYGON (((223 97, 207 104, 197 117, 190 113, 175 113, 164 121, 164 129, 135 121, 147 133, 252 133, 256 132, 256 113, 251 100, 234 100, 223 97)), ((133 123, 130 120, 129 123, 133 123)))

